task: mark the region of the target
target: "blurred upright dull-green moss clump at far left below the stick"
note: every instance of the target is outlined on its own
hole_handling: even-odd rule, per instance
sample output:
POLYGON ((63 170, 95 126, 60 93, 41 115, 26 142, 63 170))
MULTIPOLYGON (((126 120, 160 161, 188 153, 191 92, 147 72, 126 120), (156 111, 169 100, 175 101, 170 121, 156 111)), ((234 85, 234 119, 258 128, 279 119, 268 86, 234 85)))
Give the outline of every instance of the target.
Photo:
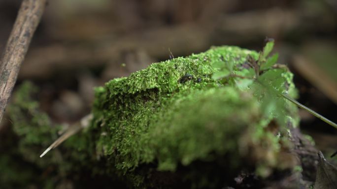
POLYGON ((27 162, 34 162, 44 167, 49 161, 41 161, 36 156, 42 146, 50 144, 57 138, 60 126, 52 126, 48 115, 39 110, 37 101, 33 100, 37 88, 31 82, 24 82, 13 96, 8 111, 14 121, 13 130, 20 137, 18 150, 27 162))

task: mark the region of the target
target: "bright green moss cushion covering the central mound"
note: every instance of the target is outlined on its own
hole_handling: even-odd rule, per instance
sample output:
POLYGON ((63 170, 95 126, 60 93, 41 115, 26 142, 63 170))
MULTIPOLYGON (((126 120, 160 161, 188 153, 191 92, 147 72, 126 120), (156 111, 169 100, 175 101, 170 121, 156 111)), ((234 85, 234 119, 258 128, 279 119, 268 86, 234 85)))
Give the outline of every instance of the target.
MULTIPOLYGON (((237 149, 243 131, 254 128, 249 137, 261 140, 266 137, 263 128, 275 115, 263 118, 261 105, 249 87, 238 87, 233 78, 215 81, 211 76, 223 67, 235 74, 251 75, 245 67, 248 54, 258 56, 237 47, 212 48, 154 63, 128 78, 96 88, 93 128, 101 131, 97 135, 98 154, 114 157, 114 165, 124 173, 151 162, 157 162, 159 171, 175 171, 178 164, 187 166, 228 153, 235 168, 240 161, 237 149), (186 75, 193 78, 185 80, 186 75)), ((292 75, 284 72, 274 74, 281 77, 281 91, 286 81, 288 88, 294 88, 292 75)), ((296 108, 284 112, 290 115, 296 108)), ((278 139, 270 138, 274 138, 270 150, 277 153, 278 139)), ((276 163, 268 166, 271 164, 276 163)))

